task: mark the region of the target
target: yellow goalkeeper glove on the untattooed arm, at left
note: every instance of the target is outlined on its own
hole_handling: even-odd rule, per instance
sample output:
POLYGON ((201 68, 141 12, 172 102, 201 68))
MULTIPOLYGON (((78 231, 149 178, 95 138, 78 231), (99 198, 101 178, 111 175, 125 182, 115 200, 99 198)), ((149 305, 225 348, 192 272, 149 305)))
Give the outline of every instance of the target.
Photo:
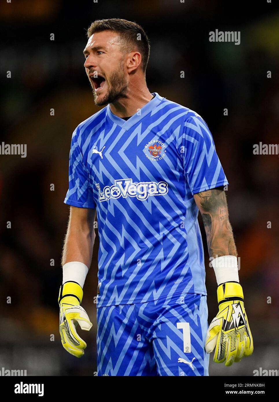
POLYGON ((76 326, 89 331, 92 323, 80 306, 82 301, 82 287, 76 282, 66 282, 60 287, 58 303, 60 306, 59 332, 64 349, 76 357, 84 355, 86 343, 76 332, 76 326))

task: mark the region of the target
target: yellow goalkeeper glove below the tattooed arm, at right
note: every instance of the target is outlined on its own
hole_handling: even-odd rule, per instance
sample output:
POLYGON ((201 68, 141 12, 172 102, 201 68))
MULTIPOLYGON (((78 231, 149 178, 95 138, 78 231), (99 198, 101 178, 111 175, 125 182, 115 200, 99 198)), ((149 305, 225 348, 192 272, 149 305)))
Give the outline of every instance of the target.
POLYGON ((252 355, 253 339, 240 284, 222 283, 217 288, 217 297, 219 312, 209 325, 205 351, 211 353, 216 346, 213 360, 231 366, 234 361, 240 361, 243 355, 252 355))

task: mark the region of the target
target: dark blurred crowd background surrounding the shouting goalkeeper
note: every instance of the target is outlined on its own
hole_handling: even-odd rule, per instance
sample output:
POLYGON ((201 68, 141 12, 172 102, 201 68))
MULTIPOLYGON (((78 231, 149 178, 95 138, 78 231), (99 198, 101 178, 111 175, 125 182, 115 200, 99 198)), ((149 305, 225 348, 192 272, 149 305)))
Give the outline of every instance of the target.
MULTIPOLYGON (((279 143, 279 10, 275 2, 232 0, 1 2, 0 144, 27 144, 27 157, 0 155, 0 367, 27 369, 29 375, 96 372, 98 240, 84 286, 93 328, 82 333, 88 344, 82 359, 61 345, 57 297, 72 131, 98 110, 82 50, 88 26, 103 18, 142 25, 151 43, 150 92, 205 119, 230 183, 230 220, 254 354, 226 369, 211 356, 209 374, 278 369, 278 155, 254 155, 253 145, 279 143), (240 45, 209 42, 215 29, 240 31, 240 45)), ((216 288, 207 267, 209 322, 217 312, 216 288)))

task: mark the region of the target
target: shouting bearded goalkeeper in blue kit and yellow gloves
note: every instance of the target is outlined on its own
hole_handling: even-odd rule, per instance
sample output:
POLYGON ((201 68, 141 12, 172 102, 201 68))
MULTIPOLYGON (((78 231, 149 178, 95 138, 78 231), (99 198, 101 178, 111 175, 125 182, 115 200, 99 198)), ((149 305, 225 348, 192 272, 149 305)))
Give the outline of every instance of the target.
POLYGON ((228 218, 228 181, 205 121, 150 93, 142 27, 92 23, 84 49, 94 101, 103 109, 72 135, 71 205, 59 293, 60 334, 76 357, 92 326, 80 306, 97 213, 98 375, 208 375, 253 351, 228 218), (217 279, 219 312, 207 324, 201 212, 217 279))

